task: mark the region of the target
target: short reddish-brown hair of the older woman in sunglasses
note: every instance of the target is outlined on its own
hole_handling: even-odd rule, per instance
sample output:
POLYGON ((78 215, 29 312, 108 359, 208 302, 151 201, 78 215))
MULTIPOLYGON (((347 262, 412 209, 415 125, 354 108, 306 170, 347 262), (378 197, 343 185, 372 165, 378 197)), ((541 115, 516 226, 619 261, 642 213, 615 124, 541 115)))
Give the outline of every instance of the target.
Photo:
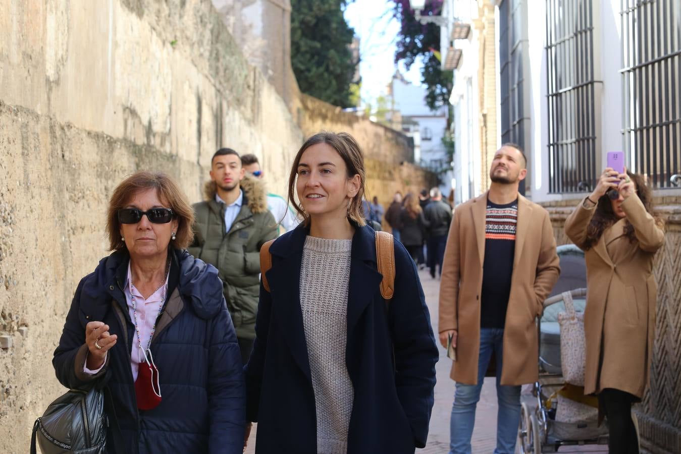
POLYGON ((194 223, 194 210, 191 208, 187 196, 170 176, 161 172, 136 172, 125 178, 111 195, 106 215, 106 232, 109 236, 110 250, 125 248, 121 240, 121 223, 118 221, 118 210, 125 208, 132 197, 147 189, 155 189, 161 201, 168 204, 178 219, 175 239, 170 240, 171 246, 184 249, 189 246, 194 237, 191 226, 194 223))

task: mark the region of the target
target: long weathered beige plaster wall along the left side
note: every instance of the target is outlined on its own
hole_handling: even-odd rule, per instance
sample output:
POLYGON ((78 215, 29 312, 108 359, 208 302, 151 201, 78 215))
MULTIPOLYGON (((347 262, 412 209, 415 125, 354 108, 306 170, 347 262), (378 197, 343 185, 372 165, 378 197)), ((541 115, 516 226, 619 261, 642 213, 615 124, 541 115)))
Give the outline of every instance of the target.
POLYGON ((0 0, 0 453, 27 452, 64 392, 52 352, 78 280, 107 254, 106 203, 127 174, 168 172, 195 201, 231 146, 283 194, 304 135, 337 129, 359 135, 370 189, 426 178, 383 152, 409 155, 397 133, 294 111, 306 128, 210 0, 0 0))

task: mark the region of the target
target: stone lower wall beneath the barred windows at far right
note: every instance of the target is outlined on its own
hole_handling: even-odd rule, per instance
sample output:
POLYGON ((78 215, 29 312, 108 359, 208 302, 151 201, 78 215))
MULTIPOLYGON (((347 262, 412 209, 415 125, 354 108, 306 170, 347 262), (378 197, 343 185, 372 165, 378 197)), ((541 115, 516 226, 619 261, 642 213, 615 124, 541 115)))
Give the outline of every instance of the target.
MULTIPOLYGON (((565 220, 576 204, 543 204, 551 215, 558 244, 569 242, 565 220)), ((654 265, 658 285, 654 353, 650 388, 635 410, 642 449, 672 454, 681 453, 681 197, 658 197, 656 210, 665 219, 666 236, 654 265)))

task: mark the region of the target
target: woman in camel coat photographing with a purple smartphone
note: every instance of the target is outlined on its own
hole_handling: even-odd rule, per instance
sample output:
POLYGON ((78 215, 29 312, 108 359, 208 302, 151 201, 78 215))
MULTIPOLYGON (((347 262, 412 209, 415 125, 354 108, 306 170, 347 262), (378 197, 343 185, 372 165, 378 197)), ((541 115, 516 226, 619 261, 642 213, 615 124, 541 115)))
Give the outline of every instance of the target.
POLYGON ((638 174, 607 167, 565 222, 586 257, 584 393, 597 394, 610 453, 638 453, 631 405, 650 380, 657 285, 654 255, 665 241, 652 193, 638 174))

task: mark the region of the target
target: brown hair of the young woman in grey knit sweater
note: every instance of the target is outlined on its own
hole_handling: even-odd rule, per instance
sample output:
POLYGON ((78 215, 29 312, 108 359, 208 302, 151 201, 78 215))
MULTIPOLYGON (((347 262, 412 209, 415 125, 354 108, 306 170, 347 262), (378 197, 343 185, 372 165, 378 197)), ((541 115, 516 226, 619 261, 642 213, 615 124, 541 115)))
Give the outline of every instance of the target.
POLYGON ((298 214, 302 216, 305 225, 309 225, 310 216, 302 209, 302 207, 296 202, 294 194, 296 191, 296 177, 298 176, 298 164, 300 164, 300 158, 305 150, 313 145, 317 144, 327 144, 331 146, 345 162, 345 167, 347 168, 347 178, 352 178, 355 175, 360 176, 360 190, 357 195, 353 197, 350 201, 350 206, 347 210, 347 217, 350 218, 358 225, 365 225, 364 212, 362 211, 362 199, 364 198, 364 182, 366 181, 366 175, 364 174, 364 154, 360 149, 359 144, 354 137, 348 133, 330 133, 326 131, 321 131, 316 133, 308 140, 298 150, 296 158, 294 159, 294 165, 291 167, 291 174, 289 175, 289 203, 296 209, 298 214))

